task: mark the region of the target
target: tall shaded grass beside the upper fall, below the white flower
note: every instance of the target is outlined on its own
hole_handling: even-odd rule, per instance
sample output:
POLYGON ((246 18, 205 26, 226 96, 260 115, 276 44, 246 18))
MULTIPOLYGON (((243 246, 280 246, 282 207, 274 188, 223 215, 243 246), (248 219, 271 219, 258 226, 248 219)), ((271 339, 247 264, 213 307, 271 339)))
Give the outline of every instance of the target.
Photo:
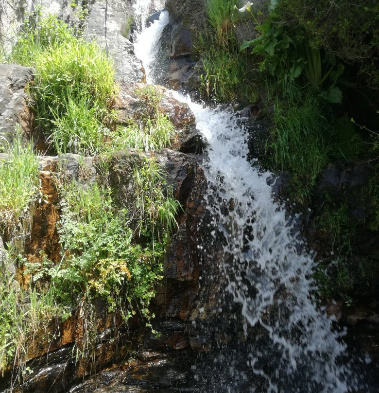
POLYGON ((237 10, 239 5, 237 0, 207 1, 208 27, 198 42, 203 63, 200 92, 216 102, 258 99, 254 62, 246 51, 240 52, 241 29, 236 26, 243 25, 244 16, 237 10))

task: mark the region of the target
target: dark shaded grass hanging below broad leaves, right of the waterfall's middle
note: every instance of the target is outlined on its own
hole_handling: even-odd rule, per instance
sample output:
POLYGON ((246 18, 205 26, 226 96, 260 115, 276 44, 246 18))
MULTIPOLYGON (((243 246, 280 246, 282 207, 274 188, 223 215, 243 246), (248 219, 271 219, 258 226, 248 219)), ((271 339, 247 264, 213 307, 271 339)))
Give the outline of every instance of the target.
POLYGON ((331 127, 317 99, 311 94, 302 97, 297 104, 276 99, 269 147, 273 168, 290 173, 291 193, 304 204, 327 165, 331 127))

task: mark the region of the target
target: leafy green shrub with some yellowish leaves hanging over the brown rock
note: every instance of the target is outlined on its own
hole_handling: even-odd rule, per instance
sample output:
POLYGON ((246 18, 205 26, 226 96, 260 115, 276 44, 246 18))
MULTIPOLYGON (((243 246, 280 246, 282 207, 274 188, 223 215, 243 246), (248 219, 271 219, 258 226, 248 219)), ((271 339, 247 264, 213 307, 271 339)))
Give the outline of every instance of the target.
POLYGON ((178 203, 169 190, 164 195, 162 175, 149 159, 136 163, 130 199, 117 209, 111 190, 97 182, 72 182, 62 189, 58 232, 63 258, 48 270, 62 304, 77 304, 83 294, 87 301, 100 296, 109 311, 119 310, 125 320, 136 307, 149 319, 162 256, 177 226, 178 203))

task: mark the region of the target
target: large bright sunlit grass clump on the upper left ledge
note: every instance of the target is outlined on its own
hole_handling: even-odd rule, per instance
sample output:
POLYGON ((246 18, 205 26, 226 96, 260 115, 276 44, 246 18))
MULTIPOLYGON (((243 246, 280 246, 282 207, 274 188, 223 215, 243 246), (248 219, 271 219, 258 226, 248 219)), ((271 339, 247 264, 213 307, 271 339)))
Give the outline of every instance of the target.
POLYGON ((30 86, 35 121, 55 151, 96 153, 115 117, 109 56, 48 15, 26 22, 11 59, 37 71, 30 86))

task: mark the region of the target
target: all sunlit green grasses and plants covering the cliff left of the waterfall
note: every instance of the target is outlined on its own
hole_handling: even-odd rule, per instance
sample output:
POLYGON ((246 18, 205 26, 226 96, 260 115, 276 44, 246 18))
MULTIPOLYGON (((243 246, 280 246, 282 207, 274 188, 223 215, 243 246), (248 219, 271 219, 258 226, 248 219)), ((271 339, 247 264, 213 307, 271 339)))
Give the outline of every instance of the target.
POLYGON ((63 21, 42 17, 40 11, 25 22, 10 61, 36 69, 29 86, 35 126, 45 136, 47 149, 58 154, 54 176, 61 200, 59 260, 51 260, 44 250, 27 259, 27 218, 34 207, 51 201, 38 188, 39 158, 32 143, 22 147, 21 140, 15 140, 9 156, 0 161, 0 234, 6 242, 0 282, 0 371, 22 371, 12 376, 17 384, 28 372, 22 365, 34 337, 41 339, 44 331, 44 339, 53 339, 52 325, 77 309, 84 322, 76 356, 84 361, 95 356, 97 301, 125 325, 139 314, 151 327, 154 315, 148 307, 162 278, 180 205, 165 172, 153 157, 142 154, 170 146, 174 135, 171 121, 157 110, 161 96, 154 88, 138 92, 144 115, 118 126, 111 59, 97 43, 85 42, 63 21), (125 148, 140 154, 126 154, 121 165, 117 151, 125 148), (79 154, 74 179, 59 168, 63 153, 79 154), (85 155, 98 156, 96 179, 88 176, 85 155), (110 172, 128 179, 121 194, 112 188, 110 172))

